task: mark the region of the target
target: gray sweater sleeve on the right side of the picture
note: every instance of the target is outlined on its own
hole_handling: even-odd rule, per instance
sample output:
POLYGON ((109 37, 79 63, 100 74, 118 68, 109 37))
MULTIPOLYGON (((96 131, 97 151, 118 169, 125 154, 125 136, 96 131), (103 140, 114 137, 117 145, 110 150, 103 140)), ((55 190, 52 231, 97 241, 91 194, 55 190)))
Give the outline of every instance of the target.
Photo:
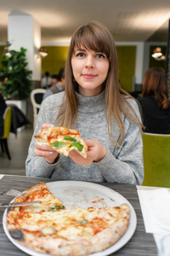
POLYGON ((144 179, 142 132, 127 119, 124 125, 126 134, 121 148, 113 152, 108 149, 105 158, 94 165, 107 182, 141 185, 144 179))

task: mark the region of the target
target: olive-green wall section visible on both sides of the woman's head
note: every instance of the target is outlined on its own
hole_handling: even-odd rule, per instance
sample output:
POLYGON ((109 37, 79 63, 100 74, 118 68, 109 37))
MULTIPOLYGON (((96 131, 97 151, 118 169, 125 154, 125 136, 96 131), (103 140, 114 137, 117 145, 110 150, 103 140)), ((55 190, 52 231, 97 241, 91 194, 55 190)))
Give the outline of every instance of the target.
MULTIPOLYGON (((59 73, 59 69, 65 66, 69 47, 43 46, 48 49, 48 56, 42 58, 42 74, 48 71, 50 74, 59 73)), ((133 75, 135 73, 136 46, 116 46, 119 61, 119 80, 122 88, 132 91, 133 75)))

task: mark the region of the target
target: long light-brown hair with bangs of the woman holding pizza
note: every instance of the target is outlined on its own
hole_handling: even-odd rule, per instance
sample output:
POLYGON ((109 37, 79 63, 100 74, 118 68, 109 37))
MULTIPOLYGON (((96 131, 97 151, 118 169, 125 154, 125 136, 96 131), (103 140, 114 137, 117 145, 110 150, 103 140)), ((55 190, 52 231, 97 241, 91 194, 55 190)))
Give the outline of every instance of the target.
POLYGON ((76 128, 77 125, 78 99, 75 92, 77 82, 73 77, 71 58, 75 47, 81 48, 81 46, 105 54, 110 62, 108 75, 104 83, 105 115, 111 141, 119 147, 125 134, 122 113, 127 116, 127 119, 138 125, 140 129, 142 129, 142 123, 134 112, 132 105, 127 100, 132 98, 132 96, 125 90, 122 90, 119 84, 115 42, 109 30, 98 21, 92 21, 88 23, 88 25, 78 28, 71 38, 71 45, 65 64, 65 95, 55 120, 55 125, 65 125, 72 128, 76 128), (114 126, 112 125, 112 121, 114 121, 114 117, 121 132, 121 137, 118 142, 116 142, 112 132, 112 126, 114 126))

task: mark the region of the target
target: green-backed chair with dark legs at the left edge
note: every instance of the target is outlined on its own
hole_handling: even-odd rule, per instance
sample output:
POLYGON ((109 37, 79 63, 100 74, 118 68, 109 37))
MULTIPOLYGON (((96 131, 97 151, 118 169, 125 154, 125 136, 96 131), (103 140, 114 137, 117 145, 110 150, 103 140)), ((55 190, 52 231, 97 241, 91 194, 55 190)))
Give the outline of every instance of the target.
POLYGON ((3 113, 3 137, 0 138, 1 148, 2 151, 6 152, 8 156, 8 160, 11 160, 9 151, 8 151, 8 135, 11 128, 11 122, 12 122, 12 108, 7 107, 5 109, 5 112, 3 113))

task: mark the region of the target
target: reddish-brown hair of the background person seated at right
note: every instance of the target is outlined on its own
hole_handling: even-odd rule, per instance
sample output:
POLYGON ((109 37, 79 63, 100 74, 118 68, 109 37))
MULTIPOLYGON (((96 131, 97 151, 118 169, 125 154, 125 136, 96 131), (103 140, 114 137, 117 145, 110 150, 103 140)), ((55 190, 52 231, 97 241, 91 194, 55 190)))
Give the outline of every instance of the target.
POLYGON ((163 68, 150 67, 146 73, 144 73, 142 96, 154 96, 160 108, 168 108, 167 75, 163 68))

